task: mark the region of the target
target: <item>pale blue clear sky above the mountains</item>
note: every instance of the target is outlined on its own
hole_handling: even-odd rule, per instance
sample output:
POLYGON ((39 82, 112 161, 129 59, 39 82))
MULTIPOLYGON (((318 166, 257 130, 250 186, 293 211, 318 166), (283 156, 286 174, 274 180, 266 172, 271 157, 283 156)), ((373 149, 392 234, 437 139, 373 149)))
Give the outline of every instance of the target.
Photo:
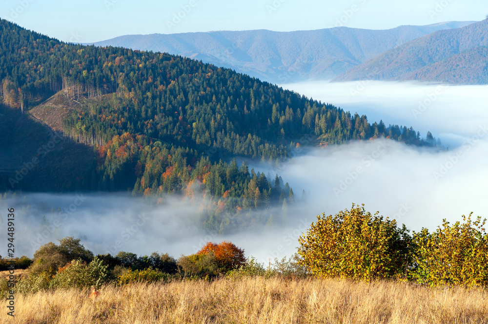
POLYGON ((487 14, 487 0, 2 0, 0 8, 2 19, 76 42, 213 30, 387 29, 487 14))

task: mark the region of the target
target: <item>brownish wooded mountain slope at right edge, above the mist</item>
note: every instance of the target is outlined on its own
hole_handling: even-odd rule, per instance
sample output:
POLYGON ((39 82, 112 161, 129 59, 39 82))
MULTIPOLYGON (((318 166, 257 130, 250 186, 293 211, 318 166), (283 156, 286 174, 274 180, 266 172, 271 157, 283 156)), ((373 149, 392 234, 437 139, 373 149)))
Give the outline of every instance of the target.
POLYGON ((488 19, 442 30, 374 57, 333 81, 360 79, 487 83, 488 19))

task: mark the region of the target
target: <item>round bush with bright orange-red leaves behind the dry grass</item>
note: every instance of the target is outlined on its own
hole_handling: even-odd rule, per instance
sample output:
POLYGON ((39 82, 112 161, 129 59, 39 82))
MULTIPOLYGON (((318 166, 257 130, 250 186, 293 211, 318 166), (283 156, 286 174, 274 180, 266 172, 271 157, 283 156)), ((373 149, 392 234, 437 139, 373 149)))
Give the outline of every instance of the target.
POLYGON ((208 254, 210 252, 215 254, 215 261, 223 272, 245 264, 244 250, 231 242, 224 241, 220 244, 208 242, 197 254, 208 254))

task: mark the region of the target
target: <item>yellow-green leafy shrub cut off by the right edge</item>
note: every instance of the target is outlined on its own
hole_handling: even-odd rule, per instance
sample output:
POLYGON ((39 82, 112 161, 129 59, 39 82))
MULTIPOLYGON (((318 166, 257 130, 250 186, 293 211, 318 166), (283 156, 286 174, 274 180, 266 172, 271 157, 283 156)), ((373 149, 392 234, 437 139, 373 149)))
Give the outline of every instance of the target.
POLYGON ((471 221, 463 215, 450 226, 445 219, 442 228, 429 233, 427 229, 413 233, 416 246, 412 278, 419 283, 438 286, 461 284, 488 286, 488 235, 485 221, 471 221))

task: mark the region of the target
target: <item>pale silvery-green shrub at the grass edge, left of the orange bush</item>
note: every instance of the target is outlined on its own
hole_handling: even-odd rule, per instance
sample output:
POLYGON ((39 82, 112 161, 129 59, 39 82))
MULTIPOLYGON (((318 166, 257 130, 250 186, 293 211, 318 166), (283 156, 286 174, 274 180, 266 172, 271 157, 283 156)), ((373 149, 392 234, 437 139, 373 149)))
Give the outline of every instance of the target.
POLYGON ((107 278, 107 266, 95 258, 86 265, 81 259, 73 260, 61 267, 49 283, 50 288, 100 287, 107 278))

